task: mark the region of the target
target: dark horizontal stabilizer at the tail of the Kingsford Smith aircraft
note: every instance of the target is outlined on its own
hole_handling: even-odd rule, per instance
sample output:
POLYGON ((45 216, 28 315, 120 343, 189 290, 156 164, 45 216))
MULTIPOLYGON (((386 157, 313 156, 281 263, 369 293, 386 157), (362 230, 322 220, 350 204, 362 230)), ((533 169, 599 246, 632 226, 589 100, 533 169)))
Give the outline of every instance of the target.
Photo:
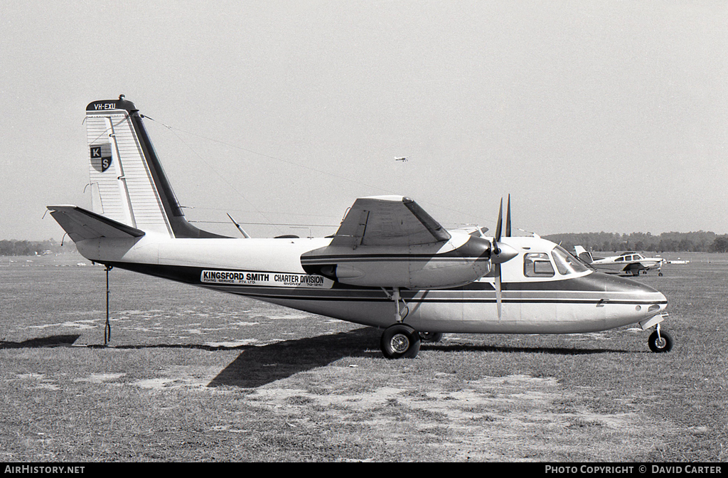
POLYGON ((144 231, 92 213, 76 205, 49 205, 50 215, 74 242, 96 238, 141 238, 144 231))

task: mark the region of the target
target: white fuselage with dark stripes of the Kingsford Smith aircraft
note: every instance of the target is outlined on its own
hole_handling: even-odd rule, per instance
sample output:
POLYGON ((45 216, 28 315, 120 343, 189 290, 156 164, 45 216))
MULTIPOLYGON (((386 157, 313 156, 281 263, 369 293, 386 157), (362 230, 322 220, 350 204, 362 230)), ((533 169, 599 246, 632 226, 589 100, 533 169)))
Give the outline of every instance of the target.
MULTIPOLYGON (((401 289, 403 322, 427 332, 595 332, 647 321, 667 306, 663 294, 636 281, 591 270, 561 273, 553 267, 550 254, 556 246, 550 241, 502 240, 518 256, 502 264, 500 318, 491 272, 465 286, 401 289), (550 276, 526 276, 524 264, 534 254, 545 254, 539 267, 550 267, 550 276)), ((330 238, 172 239, 149 233, 136 239, 82 240, 76 246, 87 259, 114 267, 357 324, 392 325, 392 290, 346 285, 304 271, 301 254, 329 243, 330 238)))

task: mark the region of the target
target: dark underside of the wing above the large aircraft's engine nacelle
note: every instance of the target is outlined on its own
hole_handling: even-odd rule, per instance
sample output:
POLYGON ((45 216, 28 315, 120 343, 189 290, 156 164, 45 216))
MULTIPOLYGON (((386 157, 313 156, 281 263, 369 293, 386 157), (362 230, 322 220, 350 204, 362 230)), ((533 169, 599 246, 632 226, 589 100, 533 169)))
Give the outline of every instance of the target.
POLYGON ((349 208, 331 246, 413 246, 447 241, 450 233, 414 200, 360 197, 349 208))

